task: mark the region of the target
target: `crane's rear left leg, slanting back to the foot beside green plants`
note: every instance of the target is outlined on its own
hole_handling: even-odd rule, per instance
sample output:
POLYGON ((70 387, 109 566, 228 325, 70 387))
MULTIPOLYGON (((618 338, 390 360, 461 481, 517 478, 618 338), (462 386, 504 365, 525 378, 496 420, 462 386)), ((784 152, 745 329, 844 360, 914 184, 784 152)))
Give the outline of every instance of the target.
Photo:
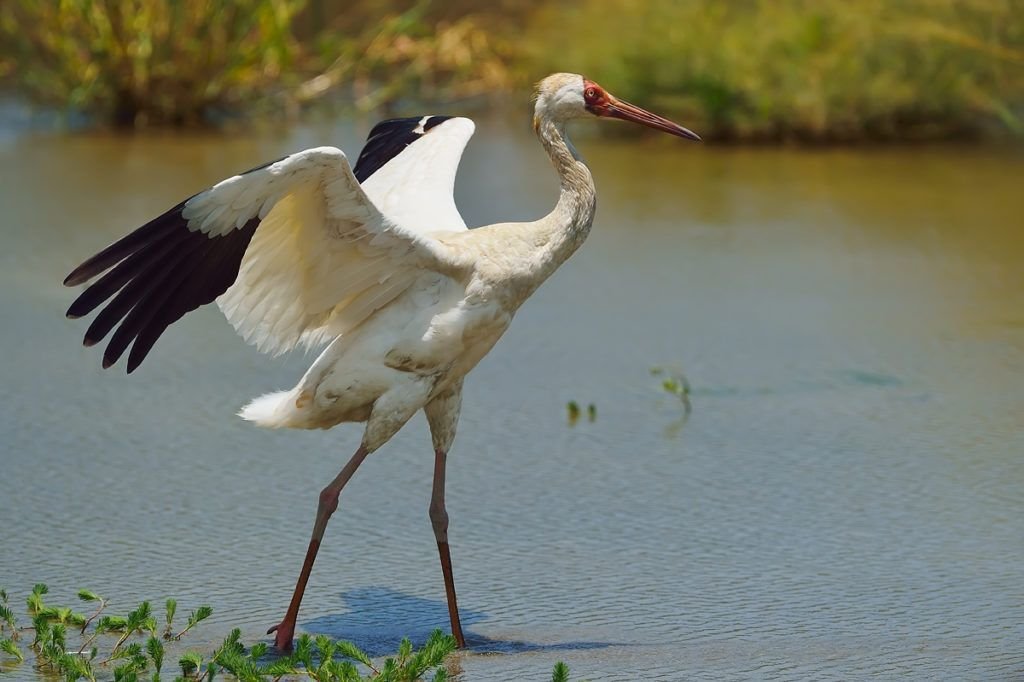
POLYGON ((341 489, 345 487, 345 483, 359 468, 367 456, 387 442, 416 414, 430 395, 431 388, 432 382, 430 381, 415 381, 403 384, 397 389, 392 388, 377 398, 370 413, 370 419, 367 420, 367 430, 362 434, 362 442, 358 450, 355 451, 352 459, 348 461, 341 472, 334 477, 334 480, 321 491, 319 502, 316 505, 316 520, 313 522, 313 535, 309 539, 309 548, 306 550, 306 558, 302 562, 302 570, 299 571, 299 580, 295 584, 295 592, 292 593, 292 601, 288 604, 285 619, 266 631, 268 635, 276 633, 273 643, 279 651, 292 650, 295 621, 299 616, 302 594, 306 590, 309 573, 312 572, 313 561, 316 559, 316 552, 324 539, 327 522, 338 509, 341 489))

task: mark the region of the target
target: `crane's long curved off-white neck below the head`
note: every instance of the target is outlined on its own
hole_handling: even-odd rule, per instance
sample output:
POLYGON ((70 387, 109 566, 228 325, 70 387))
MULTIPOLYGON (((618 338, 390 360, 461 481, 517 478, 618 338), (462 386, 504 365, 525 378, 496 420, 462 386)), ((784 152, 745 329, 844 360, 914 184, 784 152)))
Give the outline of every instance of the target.
POLYGON ((597 209, 597 194, 590 169, 569 143, 563 124, 539 117, 535 128, 561 184, 554 210, 532 223, 537 265, 542 279, 546 279, 587 239, 597 209))

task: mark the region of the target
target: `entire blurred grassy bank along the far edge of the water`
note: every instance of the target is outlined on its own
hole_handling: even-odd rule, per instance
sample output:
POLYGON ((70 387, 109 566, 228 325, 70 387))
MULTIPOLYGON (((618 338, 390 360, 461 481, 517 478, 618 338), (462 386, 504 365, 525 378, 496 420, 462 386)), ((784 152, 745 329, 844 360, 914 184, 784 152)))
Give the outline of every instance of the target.
POLYGON ((0 79, 123 126, 480 97, 550 71, 719 139, 1024 136, 1024 0, 0 2, 0 79))

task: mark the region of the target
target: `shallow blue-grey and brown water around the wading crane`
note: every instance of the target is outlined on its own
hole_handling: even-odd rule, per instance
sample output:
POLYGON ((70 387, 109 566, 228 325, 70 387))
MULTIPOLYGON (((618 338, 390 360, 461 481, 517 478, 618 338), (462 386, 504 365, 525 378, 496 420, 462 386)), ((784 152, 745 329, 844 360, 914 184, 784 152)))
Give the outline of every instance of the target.
MULTIPOLYGON (((0 586, 210 603, 199 647, 280 620, 359 429, 234 418, 311 357, 215 309, 103 372, 60 281, 205 184, 366 129, 0 136, 0 586)), ((451 457, 460 679, 1024 676, 1024 157, 578 141, 594 231, 471 376, 451 457), (688 377, 685 423, 652 366, 688 377), (567 426, 568 400, 597 420, 567 426)), ((525 125, 487 121, 457 195, 482 224, 555 186, 525 125)), ((422 418, 368 460, 300 630, 382 654, 447 629, 431 466, 422 418)))

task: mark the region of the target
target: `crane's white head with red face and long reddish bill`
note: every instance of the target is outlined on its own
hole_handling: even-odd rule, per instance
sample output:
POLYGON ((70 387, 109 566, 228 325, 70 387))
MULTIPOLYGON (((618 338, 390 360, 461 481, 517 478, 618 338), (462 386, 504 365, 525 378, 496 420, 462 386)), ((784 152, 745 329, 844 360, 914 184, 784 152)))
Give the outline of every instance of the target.
POLYGON ((537 84, 535 127, 544 120, 559 123, 591 116, 632 121, 671 135, 700 140, 695 132, 636 104, 623 101, 579 74, 552 74, 537 84))

